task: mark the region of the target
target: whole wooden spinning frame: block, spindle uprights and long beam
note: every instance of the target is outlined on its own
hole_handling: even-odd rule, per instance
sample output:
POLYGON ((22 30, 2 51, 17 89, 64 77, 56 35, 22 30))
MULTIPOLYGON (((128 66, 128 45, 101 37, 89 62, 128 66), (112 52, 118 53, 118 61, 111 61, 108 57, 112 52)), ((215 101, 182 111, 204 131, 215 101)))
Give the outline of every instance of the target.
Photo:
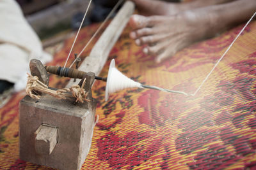
MULTIPOLYGON (((91 91, 95 74, 100 73, 133 11, 134 3, 126 1, 79 67, 87 72, 84 90, 89 93, 90 101, 74 103, 47 94, 39 100, 26 96, 20 101, 20 159, 58 169, 81 168, 90 150, 95 125, 96 103, 91 91)), ((31 74, 48 83, 40 61, 31 61, 31 74)), ((70 80, 67 87, 73 83, 70 80)))

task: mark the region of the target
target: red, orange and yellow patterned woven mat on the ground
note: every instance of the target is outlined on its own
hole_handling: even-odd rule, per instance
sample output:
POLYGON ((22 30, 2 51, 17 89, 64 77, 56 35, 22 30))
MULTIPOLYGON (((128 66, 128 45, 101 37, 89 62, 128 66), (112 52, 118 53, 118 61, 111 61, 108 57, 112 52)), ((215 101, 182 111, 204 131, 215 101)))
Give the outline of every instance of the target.
MULTIPOLYGON (((75 52, 98 26, 83 29, 75 52)), ((143 54, 127 27, 101 76, 115 59, 118 69, 136 81, 193 93, 242 27, 195 43, 162 64, 143 54)), ((49 65, 63 66, 73 40, 65 41, 49 65)), ((50 81, 51 87, 62 88, 68 80, 51 76, 50 81)), ((256 169, 255 21, 195 97, 130 89, 112 94, 106 103, 105 85, 96 81, 93 87, 100 119, 82 169, 256 169)), ((19 101, 24 95, 14 94, 0 109, 0 167, 51 169, 19 159, 19 101)))

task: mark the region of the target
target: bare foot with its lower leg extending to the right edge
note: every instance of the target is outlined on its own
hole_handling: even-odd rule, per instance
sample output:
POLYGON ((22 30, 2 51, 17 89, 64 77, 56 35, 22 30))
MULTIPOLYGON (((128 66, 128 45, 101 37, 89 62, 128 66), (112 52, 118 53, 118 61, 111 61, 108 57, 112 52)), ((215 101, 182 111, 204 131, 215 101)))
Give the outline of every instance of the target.
POLYGON ((255 0, 239 0, 171 16, 132 15, 129 24, 134 31, 130 33, 130 37, 135 40, 136 45, 146 45, 143 52, 155 55, 156 62, 159 63, 195 41, 212 37, 248 20, 255 8, 255 0))

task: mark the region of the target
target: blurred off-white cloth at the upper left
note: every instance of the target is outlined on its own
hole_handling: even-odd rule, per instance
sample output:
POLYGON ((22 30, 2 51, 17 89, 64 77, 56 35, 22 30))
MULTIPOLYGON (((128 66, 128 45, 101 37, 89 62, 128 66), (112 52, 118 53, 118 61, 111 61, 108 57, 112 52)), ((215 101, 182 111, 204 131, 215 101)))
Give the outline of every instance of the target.
POLYGON ((0 80, 15 83, 15 90, 26 86, 29 60, 49 62, 35 31, 28 24, 19 4, 14 0, 0 0, 0 80))

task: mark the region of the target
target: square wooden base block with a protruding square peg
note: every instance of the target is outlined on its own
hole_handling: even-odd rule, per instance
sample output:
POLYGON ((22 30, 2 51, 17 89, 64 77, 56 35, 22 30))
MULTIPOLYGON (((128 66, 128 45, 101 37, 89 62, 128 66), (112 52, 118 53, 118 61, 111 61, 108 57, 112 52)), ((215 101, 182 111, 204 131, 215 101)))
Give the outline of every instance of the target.
POLYGON ((58 169, 80 169, 90 150, 95 101, 76 103, 52 96, 20 101, 20 159, 58 169))

